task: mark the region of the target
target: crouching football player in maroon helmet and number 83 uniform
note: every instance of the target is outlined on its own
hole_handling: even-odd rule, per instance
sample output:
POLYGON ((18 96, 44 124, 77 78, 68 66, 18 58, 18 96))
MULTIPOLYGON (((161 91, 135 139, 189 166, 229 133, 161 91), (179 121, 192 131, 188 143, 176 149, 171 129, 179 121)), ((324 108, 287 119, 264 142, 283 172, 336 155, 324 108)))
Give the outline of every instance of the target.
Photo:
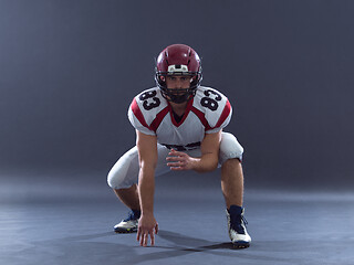
POLYGON ((168 171, 208 172, 221 167, 221 190, 231 242, 248 247, 251 242, 243 218, 243 148, 222 129, 232 108, 228 98, 200 85, 198 54, 188 45, 167 46, 157 57, 156 87, 138 94, 128 109, 136 129, 136 146, 111 169, 107 182, 129 215, 114 226, 117 233, 137 232, 146 246, 155 243, 155 176, 168 171), (138 183, 138 184, 137 184, 138 183))

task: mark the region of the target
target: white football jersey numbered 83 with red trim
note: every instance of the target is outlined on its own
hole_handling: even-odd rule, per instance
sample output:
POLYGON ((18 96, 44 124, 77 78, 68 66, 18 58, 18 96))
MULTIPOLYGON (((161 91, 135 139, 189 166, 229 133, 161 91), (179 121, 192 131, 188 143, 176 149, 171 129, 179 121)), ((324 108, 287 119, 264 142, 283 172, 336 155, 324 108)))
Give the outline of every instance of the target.
POLYGON ((205 134, 226 127, 232 115, 228 98, 220 92, 199 86, 180 121, 176 121, 170 104, 158 87, 138 94, 128 109, 135 129, 157 136, 157 142, 179 151, 200 147, 205 134))

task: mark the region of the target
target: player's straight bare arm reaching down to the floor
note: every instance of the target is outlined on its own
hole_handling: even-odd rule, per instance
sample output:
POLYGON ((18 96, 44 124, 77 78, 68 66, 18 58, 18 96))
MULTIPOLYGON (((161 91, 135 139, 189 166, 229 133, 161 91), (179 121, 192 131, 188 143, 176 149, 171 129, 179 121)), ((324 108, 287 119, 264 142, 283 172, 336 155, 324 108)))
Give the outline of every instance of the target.
POLYGON ((136 131, 136 146, 139 155, 139 202, 142 216, 138 223, 137 241, 142 246, 147 246, 148 237, 155 244, 155 233, 158 224, 154 218, 155 168, 157 162, 156 136, 136 131))

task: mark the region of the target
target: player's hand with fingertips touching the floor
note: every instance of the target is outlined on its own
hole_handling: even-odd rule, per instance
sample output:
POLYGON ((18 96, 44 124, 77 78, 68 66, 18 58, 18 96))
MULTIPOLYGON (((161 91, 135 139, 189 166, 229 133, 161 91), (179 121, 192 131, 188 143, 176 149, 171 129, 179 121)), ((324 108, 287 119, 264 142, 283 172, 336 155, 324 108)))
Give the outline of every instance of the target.
POLYGON ((154 215, 142 214, 137 226, 136 240, 140 242, 140 246, 147 246, 148 237, 150 236, 152 246, 155 244, 155 234, 158 232, 158 223, 154 215))

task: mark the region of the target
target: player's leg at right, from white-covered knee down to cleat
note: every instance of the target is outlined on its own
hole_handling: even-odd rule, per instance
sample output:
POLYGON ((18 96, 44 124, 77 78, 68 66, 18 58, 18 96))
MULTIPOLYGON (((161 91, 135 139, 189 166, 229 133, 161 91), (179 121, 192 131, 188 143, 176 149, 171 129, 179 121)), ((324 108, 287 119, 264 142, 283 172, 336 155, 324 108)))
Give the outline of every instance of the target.
POLYGON ((243 148, 236 137, 222 132, 220 142, 219 163, 221 163, 221 190, 227 205, 228 231, 231 242, 236 247, 248 247, 251 237, 246 229, 243 218, 243 148))

